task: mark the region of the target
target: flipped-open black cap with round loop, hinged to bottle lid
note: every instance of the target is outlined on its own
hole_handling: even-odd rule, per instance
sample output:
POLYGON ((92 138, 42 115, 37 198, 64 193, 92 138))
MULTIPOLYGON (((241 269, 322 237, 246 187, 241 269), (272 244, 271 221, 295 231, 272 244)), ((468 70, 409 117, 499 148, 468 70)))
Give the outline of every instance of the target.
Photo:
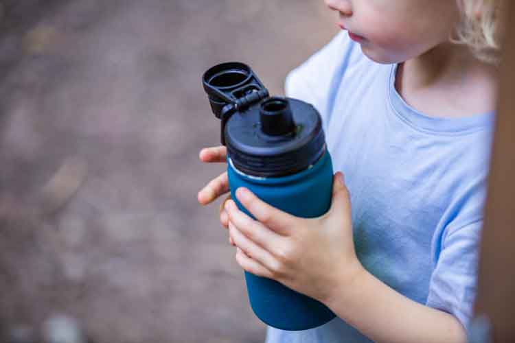
POLYGON ((220 141, 225 145, 224 130, 231 115, 268 97, 252 69, 241 62, 226 62, 208 69, 203 75, 204 91, 214 115, 221 119, 220 141))

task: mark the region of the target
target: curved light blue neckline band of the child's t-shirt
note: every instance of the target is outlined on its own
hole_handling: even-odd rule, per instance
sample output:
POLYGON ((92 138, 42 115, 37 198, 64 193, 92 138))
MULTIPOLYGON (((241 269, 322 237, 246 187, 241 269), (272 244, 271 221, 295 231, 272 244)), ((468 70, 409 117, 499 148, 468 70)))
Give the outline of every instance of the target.
POLYGON ((399 64, 392 64, 388 98, 393 112, 413 128, 435 134, 466 134, 477 130, 492 128, 495 112, 480 113, 457 118, 431 117, 409 106, 398 93, 395 81, 399 64))

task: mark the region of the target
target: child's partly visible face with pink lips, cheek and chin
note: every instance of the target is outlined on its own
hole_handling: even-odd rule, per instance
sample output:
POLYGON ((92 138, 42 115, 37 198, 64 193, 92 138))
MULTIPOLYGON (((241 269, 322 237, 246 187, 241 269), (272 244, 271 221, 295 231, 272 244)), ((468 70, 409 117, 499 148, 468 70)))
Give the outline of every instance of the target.
POLYGON ((398 63, 448 41, 459 21, 452 0, 325 0, 339 24, 380 63, 398 63))

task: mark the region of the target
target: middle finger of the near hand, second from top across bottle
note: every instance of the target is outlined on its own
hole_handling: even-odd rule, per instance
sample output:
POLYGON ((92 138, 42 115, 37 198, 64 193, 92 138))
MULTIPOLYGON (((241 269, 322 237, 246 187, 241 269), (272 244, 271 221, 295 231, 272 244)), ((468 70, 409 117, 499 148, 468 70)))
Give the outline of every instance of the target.
POLYGON ((225 208, 229 216, 229 225, 236 226, 241 233, 258 246, 273 252, 281 244, 279 240, 282 236, 240 211, 233 200, 229 200, 225 208))

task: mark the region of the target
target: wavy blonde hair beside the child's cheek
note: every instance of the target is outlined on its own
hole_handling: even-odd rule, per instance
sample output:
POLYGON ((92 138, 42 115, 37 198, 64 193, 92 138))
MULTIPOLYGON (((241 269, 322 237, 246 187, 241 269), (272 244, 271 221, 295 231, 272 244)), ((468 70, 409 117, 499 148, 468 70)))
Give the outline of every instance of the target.
POLYGON ((499 63, 502 3, 503 0, 459 0, 462 20, 451 41, 468 45, 483 62, 499 63))

